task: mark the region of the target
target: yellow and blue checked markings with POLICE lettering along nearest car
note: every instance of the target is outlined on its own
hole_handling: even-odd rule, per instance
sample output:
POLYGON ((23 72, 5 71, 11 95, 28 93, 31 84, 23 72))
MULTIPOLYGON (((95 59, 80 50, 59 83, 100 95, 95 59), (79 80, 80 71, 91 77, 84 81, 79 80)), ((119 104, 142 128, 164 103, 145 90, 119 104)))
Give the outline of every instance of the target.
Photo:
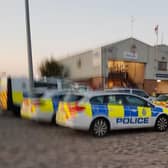
POLYGON ((57 120, 65 123, 67 120, 78 116, 83 112, 86 116, 92 118, 95 116, 106 116, 111 119, 116 119, 118 124, 148 124, 150 117, 157 117, 161 113, 167 113, 168 109, 162 107, 141 107, 141 106, 123 106, 123 105, 93 105, 83 103, 80 106, 84 110, 79 110, 78 103, 59 104, 57 120))

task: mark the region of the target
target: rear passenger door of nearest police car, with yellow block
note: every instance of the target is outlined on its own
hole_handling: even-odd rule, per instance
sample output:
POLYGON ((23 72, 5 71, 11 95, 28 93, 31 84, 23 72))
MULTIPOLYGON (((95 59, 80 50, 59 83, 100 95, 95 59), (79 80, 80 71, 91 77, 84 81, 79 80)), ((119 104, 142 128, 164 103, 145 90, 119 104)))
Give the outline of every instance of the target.
POLYGON ((129 128, 129 120, 131 119, 130 111, 127 111, 125 118, 125 106, 123 95, 108 95, 108 116, 111 121, 112 129, 129 128))

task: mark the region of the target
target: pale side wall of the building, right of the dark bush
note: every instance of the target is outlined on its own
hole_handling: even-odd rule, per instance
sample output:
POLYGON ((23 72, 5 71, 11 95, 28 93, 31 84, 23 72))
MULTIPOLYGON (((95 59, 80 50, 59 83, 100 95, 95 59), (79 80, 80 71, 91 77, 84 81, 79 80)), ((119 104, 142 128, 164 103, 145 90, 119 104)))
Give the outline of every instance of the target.
POLYGON ((67 57, 60 62, 69 69, 70 79, 101 76, 101 48, 67 57))

